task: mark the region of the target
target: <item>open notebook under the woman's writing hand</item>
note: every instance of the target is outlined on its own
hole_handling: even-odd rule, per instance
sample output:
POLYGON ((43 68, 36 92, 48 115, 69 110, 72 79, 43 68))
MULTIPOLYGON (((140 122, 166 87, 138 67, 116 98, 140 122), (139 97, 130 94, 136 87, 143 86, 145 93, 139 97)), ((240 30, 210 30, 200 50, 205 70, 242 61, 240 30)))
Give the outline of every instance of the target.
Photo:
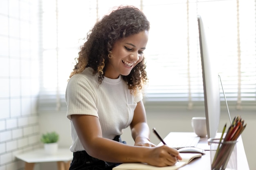
POLYGON ((178 161, 173 166, 157 167, 151 166, 146 163, 122 163, 113 168, 113 170, 177 170, 178 168, 188 164, 194 158, 201 157, 200 153, 180 153, 181 161, 178 161))

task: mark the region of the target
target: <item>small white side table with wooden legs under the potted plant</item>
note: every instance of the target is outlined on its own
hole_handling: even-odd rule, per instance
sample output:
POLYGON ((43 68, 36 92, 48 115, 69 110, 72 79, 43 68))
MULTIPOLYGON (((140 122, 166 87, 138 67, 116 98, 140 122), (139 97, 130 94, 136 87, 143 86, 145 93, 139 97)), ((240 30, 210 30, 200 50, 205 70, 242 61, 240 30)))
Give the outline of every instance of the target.
POLYGON ((33 170, 35 163, 57 162, 58 170, 68 170, 73 159, 73 152, 68 148, 58 148, 53 155, 45 153, 43 148, 15 155, 18 159, 25 161, 25 170, 33 170))

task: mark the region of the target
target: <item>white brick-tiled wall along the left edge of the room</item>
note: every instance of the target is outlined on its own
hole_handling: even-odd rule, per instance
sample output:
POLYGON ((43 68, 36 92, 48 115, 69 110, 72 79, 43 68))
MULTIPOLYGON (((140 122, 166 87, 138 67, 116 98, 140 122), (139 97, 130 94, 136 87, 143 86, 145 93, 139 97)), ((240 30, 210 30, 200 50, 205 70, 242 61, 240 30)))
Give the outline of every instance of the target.
POLYGON ((37 1, 0 1, 0 170, 21 170, 15 154, 38 147, 37 1))

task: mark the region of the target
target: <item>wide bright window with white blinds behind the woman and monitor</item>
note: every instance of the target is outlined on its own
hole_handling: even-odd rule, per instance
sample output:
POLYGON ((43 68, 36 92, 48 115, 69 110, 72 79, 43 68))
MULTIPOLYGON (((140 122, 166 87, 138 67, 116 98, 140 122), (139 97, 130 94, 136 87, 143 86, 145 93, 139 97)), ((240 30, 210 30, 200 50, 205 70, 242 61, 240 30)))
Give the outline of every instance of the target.
MULTIPOLYGON (((42 0, 40 110, 65 110, 65 87, 86 33, 124 0, 42 0)), ((256 20, 252 0, 132 0, 150 21, 145 51, 145 105, 203 106, 197 15, 211 31, 211 48, 231 108, 256 107, 256 20)), ((224 103, 222 90, 221 100, 224 103)))

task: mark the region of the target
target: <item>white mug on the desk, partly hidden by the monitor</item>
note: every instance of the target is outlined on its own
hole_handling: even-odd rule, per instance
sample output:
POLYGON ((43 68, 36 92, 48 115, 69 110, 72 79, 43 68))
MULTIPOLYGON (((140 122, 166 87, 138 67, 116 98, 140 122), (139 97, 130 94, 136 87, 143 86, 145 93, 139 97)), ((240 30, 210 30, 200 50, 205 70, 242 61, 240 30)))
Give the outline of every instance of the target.
POLYGON ((191 125, 195 134, 198 135, 199 137, 205 137, 207 135, 205 117, 193 117, 191 119, 191 125))

